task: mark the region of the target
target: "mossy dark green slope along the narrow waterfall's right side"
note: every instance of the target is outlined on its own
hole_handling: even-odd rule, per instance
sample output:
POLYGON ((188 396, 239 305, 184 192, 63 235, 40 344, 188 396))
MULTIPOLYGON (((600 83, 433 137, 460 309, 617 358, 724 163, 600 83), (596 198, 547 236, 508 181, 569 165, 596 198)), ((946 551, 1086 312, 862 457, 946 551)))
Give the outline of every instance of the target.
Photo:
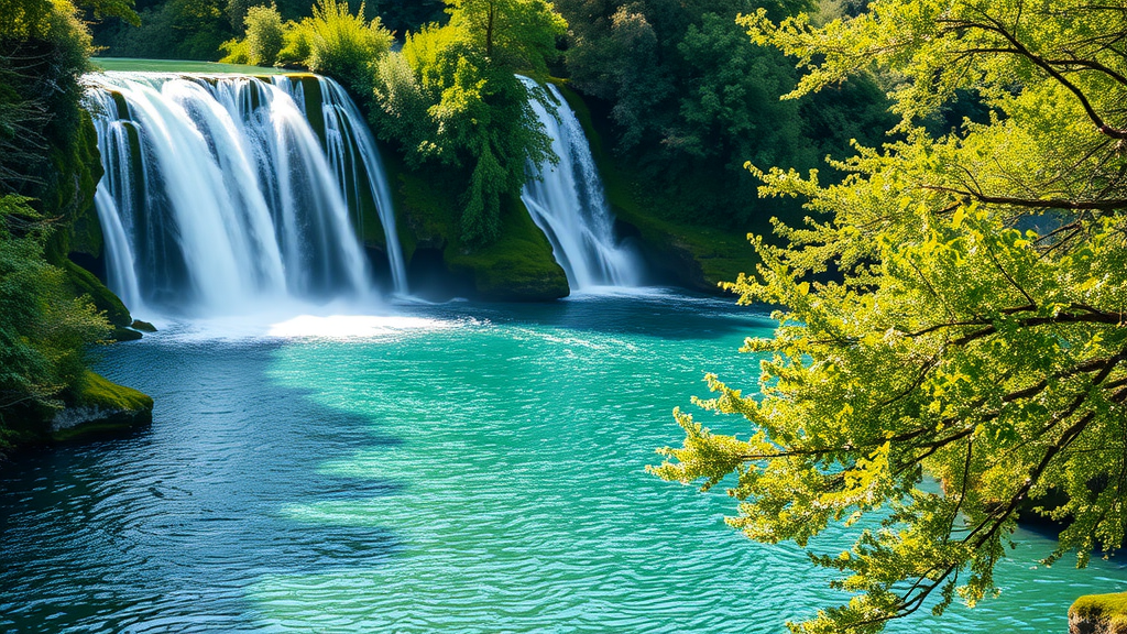
POLYGON ((642 205, 639 185, 607 151, 587 104, 565 81, 553 82, 587 135, 606 202, 620 222, 637 229, 650 263, 664 267, 663 273, 676 276, 681 283, 706 292, 721 292, 719 282, 733 282, 740 273, 754 270, 758 256, 746 236, 667 220, 660 210, 642 205))

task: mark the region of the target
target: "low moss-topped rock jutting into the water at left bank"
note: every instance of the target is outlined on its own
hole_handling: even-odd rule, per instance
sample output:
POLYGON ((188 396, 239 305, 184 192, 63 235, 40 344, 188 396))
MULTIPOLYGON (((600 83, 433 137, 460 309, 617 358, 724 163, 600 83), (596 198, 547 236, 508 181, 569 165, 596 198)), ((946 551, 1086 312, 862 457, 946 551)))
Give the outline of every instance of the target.
POLYGON ((152 398, 87 370, 66 407, 51 421, 51 440, 64 442, 132 430, 152 422, 152 398))

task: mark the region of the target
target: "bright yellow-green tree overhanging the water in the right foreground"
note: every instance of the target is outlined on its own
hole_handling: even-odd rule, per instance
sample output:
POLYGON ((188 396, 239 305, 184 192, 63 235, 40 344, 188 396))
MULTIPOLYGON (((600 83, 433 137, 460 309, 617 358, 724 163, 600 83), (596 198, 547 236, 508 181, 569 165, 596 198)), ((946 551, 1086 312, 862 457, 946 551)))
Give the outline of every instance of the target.
POLYGON ((745 395, 709 376, 706 411, 752 423, 713 433, 676 412, 683 447, 654 470, 731 482, 729 523, 801 547, 831 522, 857 540, 815 561, 853 597, 802 632, 876 632, 921 607, 994 590, 1017 511, 1067 520, 1048 562, 1124 543, 1127 527, 1127 8, 1076 0, 877 0, 822 27, 742 19, 793 55, 798 96, 895 73, 902 140, 835 164, 850 175, 760 170, 762 194, 811 218, 754 243, 729 288, 779 308, 748 340, 745 395), (921 125, 957 95, 985 122, 921 125), (820 281, 819 281, 820 280, 820 281), (728 481, 729 476, 735 479, 728 481), (923 485, 925 477, 940 491, 923 485), (855 522, 872 516, 859 528, 855 522))

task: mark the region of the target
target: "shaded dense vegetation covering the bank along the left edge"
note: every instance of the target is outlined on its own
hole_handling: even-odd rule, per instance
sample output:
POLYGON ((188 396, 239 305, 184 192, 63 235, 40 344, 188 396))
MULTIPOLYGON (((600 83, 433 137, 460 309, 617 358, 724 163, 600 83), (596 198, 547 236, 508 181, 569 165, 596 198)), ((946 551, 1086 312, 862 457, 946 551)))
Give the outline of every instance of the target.
MULTIPOLYGON (((117 2, 89 8, 131 17, 117 2)), ((64 1, 7 0, 0 15, 2 449, 14 425, 83 389, 87 345, 108 336, 109 325, 88 297, 76 299, 81 282, 59 246, 98 177, 92 125, 80 108, 90 36, 64 1)))

